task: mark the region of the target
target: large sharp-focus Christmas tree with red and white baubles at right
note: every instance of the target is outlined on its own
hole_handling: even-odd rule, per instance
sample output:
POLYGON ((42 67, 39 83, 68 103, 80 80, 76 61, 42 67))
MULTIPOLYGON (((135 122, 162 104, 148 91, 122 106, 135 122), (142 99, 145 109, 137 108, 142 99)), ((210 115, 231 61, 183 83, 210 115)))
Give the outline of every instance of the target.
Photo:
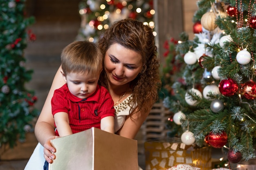
POLYGON ((195 37, 180 34, 164 106, 181 125, 184 144, 227 148, 229 163, 255 158, 256 1, 200 0, 193 17, 195 37), (175 65, 174 62, 174 65, 175 65))

